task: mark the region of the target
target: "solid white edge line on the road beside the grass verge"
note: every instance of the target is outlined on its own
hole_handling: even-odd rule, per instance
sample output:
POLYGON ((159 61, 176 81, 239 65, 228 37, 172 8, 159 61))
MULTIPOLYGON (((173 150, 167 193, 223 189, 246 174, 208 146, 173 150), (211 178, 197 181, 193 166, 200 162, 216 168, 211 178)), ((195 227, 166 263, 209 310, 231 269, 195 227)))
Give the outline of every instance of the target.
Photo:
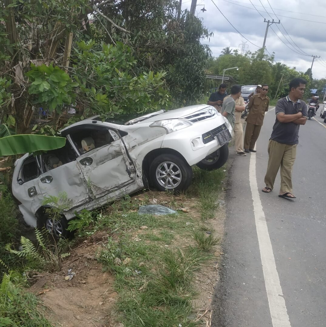
MULTIPOLYGON (((259 243, 259 251, 265 287, 267 292, 269 311, 273 327, 291 327, 287 314, 282 288, 276 269, 272 243, 269 237, 265 214, 260 201, 256 178, 256 154, 251 153, 249 165, 249 181, 254 205, 254 215, 259 243)), ((271 195, 269 195, 271 196, 271 195)))

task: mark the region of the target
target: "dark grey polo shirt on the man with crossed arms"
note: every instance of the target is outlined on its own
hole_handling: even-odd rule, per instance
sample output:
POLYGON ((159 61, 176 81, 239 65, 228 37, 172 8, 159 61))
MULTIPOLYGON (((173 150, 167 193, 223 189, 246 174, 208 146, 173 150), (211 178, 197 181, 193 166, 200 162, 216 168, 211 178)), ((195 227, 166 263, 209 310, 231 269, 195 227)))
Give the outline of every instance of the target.
MULTIPOLYGON (((276 115, 281 112, 284 112, 286 115, 293 115, 299 111, 302 112, 303 117, 308 117, 306 103, 300 100, 294 103, 289 96, 279 99, 275 107, 276 115)), ((287 145, 298 144, 299 126, 300 125, 293 122, 281 123, 276 117, 276 122, 273 126, 273 132, 270 139, 287 145)))

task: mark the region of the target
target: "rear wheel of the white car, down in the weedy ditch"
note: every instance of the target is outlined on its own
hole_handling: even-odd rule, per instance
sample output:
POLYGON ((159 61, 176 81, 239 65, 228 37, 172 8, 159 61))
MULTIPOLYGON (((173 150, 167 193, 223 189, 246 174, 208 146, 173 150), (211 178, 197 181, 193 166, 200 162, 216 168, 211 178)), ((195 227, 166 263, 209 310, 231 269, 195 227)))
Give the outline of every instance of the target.
POLYGON ((53 218, 47 213, 42 213, 37 217, 37 228, 39 230, 45 228, 55 239, 69 236, 68 222, 64 215, 58 216, 53 224, 53 218))

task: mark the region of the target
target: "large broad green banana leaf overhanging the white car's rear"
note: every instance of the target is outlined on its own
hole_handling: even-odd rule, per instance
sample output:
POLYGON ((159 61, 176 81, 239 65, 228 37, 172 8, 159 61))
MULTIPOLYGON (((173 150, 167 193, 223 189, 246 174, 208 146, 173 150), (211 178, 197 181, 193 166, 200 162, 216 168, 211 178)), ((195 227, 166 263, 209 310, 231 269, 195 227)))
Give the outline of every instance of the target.
POLYGON ((0 138, 0 156, 54 150, 65 144, 64 137, 37 134, 10 135, 0 138))

